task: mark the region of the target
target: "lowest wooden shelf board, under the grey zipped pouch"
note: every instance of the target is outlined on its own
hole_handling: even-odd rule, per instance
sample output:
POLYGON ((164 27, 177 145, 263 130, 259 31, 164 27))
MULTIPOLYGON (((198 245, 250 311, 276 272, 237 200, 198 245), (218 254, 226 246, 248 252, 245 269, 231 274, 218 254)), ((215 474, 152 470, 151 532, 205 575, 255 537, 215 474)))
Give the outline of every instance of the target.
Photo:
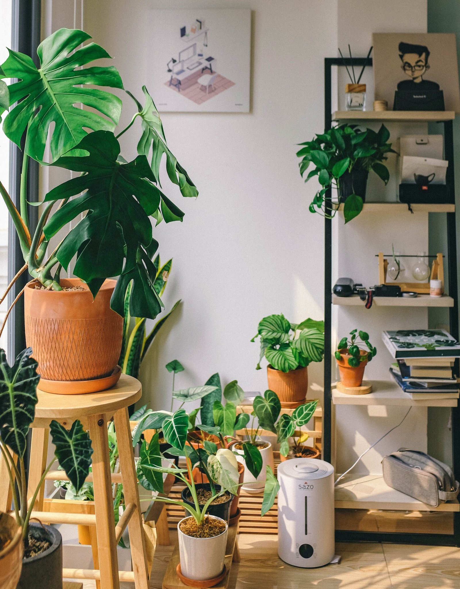
POLYGON ((399 511, 460 511, 457 500, 438 507, 425 505, 384 481, 383 475, 346 475, 335 487, 335 507, 340 509, 396 509, 399 511))

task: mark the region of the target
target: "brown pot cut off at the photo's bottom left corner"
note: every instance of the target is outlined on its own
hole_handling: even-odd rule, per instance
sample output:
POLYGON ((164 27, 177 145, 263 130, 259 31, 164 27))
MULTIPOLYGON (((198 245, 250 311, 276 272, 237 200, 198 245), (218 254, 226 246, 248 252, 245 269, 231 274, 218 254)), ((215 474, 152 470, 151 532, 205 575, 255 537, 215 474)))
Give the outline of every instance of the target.
POLYGON ((0 538, 9 540, 3 549, 0 544, 0 587, 15 589, 21 577, 24 543, 22 530, 11 515, 0 513, 0 538))

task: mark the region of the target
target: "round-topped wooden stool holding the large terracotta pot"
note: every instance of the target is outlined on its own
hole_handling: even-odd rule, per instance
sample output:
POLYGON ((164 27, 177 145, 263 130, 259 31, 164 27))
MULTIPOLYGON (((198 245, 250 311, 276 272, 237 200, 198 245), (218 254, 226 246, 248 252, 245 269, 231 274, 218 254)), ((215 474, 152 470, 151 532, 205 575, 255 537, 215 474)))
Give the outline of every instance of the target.
MULTIPOLYGON (((64 569, 62 576, 76 579, 95 579, 101 589, 119 589, 119 581, 134 581, 136 589, 148 589, 144 530, 139 507, 134 453, 131 429, 129 428, 128 406, 141 398, 141 383, 132 376, 122 375, 114 388, 88 395, 52 395, 37 391, 38 403, 32 423, 31 459, 29 468, 29 500, 46 468, 48 454, 48 428, 52 419, 70 428, 79 419, 89 430, 92 440, 92 474, 88 480, 94 485, 95 515, 71 514, 43 511, 44 484, 35 501, 32 518, 49 524, 84 524, 95 526, 99 562, 96 570, 64 569), (121 482, 125 496, 125 511, 115 527, 114 504, 112 499, 112 475, 109 465, 107 422, 115 422, 118 442, 121 482), (116 545, 126 525, 129 530, 129 544, 133 571, 118 571, 116 545), (98 583, 100 581, 100 585, 98 583)), ((115 478, 119 478, 118 477, 115 478)), ((117 481, 119 482, 119 481, 117 481)), ((0 481, 0 497, 7 494, 0 481)), ((94 528, 92 528, 94 529, 94 528)), ((93 552, 94 554, 94 552, 93 552)))

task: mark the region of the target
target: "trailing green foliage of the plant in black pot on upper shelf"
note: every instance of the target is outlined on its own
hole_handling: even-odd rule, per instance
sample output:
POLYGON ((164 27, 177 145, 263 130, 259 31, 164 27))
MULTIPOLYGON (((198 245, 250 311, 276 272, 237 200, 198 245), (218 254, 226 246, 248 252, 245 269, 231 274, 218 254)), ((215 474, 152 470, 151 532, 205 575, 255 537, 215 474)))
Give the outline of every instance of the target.
POLYGON ((314 168, 309 171, 305 182, 317 176, 321 184, 310 204, 310 212, 330 219, 335 216, 339 204, 345 200, 345 223, 361 213, 362 197, 353 190, 351 194, 343 194, 345 179, 350 174, 360 172, 366 176, 373 170, 387 184, 389 172, 382 161, 387 159, 387 154, 396 153, 391 148, 391 143, 388 143, 389 135, 385 125, 375 133, 372 129, 361 130, 358 125, 344 124, 316 135, 312 141, 301 143, 303 147, 297 152, 298 157, 302 158, 299 163, 301 176, 304 177, 310 164, 313 164, 314 168), (339 197, 342 198, 327 200, 326 192, 331 187, 338 188, 339 193, 342 192, 339 197))

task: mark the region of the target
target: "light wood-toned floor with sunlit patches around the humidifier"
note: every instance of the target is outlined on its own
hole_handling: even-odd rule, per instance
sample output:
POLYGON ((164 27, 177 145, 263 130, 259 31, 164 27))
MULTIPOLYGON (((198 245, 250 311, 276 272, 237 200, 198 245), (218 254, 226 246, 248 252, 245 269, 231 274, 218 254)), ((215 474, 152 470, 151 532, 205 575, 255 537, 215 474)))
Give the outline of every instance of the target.
MULTIPOLYGON (((171 534, 171 539, 174 540, 171 534)), ((459 589, 460 548, 398 544, 337 544, 340 564, 303 569, 278 558, 275 535, 239 535, 241 562, 229 589, 459 589)), ((151 588, 161 589, 172 547, 159 546, 151 588)), ((122 583, 123 589, 134 585, 122 583)), ((86 581, 84 589, 94 589, 86 581)))

